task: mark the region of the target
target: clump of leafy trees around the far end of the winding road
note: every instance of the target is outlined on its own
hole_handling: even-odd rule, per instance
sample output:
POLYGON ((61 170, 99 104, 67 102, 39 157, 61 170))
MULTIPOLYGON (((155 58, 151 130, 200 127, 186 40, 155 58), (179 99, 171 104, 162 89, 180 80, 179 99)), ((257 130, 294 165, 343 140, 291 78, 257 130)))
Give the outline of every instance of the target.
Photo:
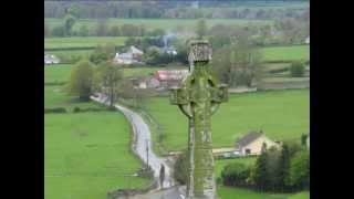
POLYGON ((110 108, 118 98, 132 101, 131 105, 140 107, 149 91, 136 88, 132 80, 124 78, 124 66, 112 60, 113 46, 98 46, 90 59, 82 59, 74 66, 65 90, 69 95, 88 101, 94 93, 103 93, 108 97, 110 108))

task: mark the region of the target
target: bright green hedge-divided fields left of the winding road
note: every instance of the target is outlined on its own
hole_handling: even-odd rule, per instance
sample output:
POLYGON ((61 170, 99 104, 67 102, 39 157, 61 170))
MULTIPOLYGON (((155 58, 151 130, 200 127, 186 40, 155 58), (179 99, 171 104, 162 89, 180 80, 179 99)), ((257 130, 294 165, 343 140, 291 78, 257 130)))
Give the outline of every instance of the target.
MULTIPOLYGON (((44 82, 65 82, 72 66, 44 70, 44 82)), ((63 86, 44 86, 44 107, 102 107, 77 102, 63 86)), ((44 197, 105 199, 110 190, 145 188, 132 175, 142 168, 129 147, 131 127, 117 112, 44 114, 44 197)))

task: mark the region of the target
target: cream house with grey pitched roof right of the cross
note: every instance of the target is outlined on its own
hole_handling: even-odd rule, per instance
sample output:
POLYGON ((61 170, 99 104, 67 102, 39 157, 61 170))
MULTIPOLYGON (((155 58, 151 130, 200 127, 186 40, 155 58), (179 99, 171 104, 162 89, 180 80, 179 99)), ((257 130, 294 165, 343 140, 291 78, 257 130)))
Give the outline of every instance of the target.
POLYGON ((260 155, 262 145, 266 144, 267 148, 279 147, 279 144, 271 140, 266 134, 260 132, 250 132, 244 137, 236 143, 236 147, 239 149, 241 155, 260 155))

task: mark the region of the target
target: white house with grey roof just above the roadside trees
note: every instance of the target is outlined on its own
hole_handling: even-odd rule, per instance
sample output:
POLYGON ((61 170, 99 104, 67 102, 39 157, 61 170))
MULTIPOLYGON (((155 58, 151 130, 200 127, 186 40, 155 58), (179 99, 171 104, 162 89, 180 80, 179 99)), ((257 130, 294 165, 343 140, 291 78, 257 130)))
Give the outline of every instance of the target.
POLYGON ((140 63, 143 54, 143 51, 132 45, 126 53, 116 53, 114 56, 114 61, 118 64, 140 63))

